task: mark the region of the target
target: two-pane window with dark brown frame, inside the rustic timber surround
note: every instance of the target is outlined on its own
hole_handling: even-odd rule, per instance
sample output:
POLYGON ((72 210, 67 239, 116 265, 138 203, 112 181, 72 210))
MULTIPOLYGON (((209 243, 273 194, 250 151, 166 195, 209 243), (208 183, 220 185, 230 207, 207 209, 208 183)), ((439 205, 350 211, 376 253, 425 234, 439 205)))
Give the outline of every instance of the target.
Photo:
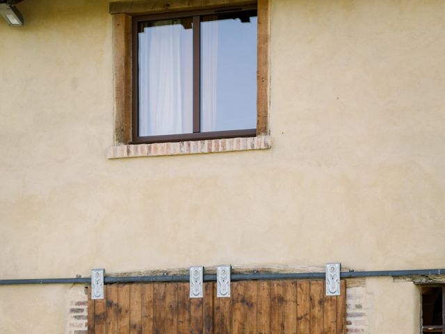
POLYGON ((257 7, 133 17, 133 143, 255 136, 257 7))

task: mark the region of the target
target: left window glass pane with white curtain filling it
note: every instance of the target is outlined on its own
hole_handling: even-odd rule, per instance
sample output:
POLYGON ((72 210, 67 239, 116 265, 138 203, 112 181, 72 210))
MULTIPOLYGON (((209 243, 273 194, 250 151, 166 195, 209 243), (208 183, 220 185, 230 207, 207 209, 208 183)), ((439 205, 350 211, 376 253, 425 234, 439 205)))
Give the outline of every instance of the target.
POLYGON ((193 132, 192 19, 139 26, 139 136, 193 132))

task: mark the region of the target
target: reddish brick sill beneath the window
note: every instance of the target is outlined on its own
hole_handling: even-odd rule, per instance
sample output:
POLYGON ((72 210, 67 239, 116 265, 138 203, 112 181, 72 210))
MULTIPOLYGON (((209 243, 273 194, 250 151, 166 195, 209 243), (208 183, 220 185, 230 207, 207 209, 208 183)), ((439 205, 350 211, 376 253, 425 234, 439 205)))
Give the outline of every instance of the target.
POLYGON ((154 143, 111 146, 107 159, 163 157, 168 155, 204 154, 248 150, 268 150, 270 136, 209 139, 205 141, 180 141, 178 143, 154 143))

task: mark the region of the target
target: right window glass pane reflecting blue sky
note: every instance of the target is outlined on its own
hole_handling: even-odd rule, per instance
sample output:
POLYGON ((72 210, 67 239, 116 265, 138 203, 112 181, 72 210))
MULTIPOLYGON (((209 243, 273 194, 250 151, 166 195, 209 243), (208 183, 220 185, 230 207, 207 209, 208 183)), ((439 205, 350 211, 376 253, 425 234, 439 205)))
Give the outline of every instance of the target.
POLYGON ((201 132, 257 127, 257 12, 201 22, 201 132))

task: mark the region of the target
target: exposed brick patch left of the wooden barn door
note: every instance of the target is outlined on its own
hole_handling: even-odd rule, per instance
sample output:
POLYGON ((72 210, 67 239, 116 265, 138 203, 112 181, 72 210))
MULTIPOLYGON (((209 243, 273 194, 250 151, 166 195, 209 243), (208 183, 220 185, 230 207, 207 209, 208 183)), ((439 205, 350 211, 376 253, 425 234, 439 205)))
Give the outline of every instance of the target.
MULTIPOLYGON (((86 290, 88 291, 88 290, 86 290)), ((88 296, 76 294, 68 301, 67 334, 88 334, 88 296)))

